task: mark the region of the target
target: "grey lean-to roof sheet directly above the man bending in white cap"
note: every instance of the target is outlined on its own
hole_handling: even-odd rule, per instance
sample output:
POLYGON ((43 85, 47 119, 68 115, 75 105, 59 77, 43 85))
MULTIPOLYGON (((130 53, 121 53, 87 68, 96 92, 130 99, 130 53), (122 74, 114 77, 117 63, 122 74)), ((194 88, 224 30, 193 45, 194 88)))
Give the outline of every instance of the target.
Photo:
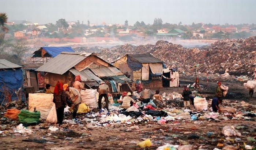
POLYGON ((91 70, 89 70, 89 69, 85 69, 83 71, 78 71, 76 69, 71 69, 69 71, 72 72, 72 74, 74 74, 74 75, 80 75, 81 80, 84 81, 84 82, 87 82, 87 81, 91 82, 91 81, 95 80, 98 83, 101 83, 101 81, 102 81, 98 76, 93 74, 93 72, 91 72, 91 70))

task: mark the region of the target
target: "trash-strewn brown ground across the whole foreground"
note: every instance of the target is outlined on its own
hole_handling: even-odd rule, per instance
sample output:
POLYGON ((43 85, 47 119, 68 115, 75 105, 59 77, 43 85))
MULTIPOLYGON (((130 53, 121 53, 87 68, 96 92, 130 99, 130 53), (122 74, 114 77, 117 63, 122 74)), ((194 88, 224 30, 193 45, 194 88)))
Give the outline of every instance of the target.
MULTIPOLYGON (((165 95, 163 103, 137 103, 138 109, 126 111, 111 106, 110 111, 79 114, 76 120, 66 109, 60 126, 40 121, 24 127, 26 124, 4 117, 6 109, 2 108, 1 149, 255 149, 255 105, 224 99, 222 111, 214 113, 211 99, 199 98, 202 102, 195 101, 197 109, 183 108, 178 93, 165 95)), ((14 102, 6 105, 26 107, 14 102)))

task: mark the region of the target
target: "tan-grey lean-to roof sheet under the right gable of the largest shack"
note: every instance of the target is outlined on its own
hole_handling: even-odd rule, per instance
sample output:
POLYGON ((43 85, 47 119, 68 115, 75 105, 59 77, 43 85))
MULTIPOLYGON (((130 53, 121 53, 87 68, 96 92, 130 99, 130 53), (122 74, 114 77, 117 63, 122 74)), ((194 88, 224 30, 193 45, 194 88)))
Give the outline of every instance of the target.
POLYGON ((93 73, 99 77, 123 75, 123 73, 120 72, 117 68, 116 69, 114 68, 115 67, 101 67, 101 68, 91 69, 91 71, 93 71, 93 73), (114 72, 112 72, 112 70, 114 72))

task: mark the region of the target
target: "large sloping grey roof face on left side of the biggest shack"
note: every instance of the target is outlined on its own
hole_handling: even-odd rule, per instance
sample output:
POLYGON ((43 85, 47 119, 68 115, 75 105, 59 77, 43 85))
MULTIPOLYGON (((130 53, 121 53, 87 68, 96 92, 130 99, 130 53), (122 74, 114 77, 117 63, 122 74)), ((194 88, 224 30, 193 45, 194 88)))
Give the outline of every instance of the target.
POLYGON ((59 54, 35 71, 44 71, 62 75, 85 58, 86 56, 78 54, 59 54))

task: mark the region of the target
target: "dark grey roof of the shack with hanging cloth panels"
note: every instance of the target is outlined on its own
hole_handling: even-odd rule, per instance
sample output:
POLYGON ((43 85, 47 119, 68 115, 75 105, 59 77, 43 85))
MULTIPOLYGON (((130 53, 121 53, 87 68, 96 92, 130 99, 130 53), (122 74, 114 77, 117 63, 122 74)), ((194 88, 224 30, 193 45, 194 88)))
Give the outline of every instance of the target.
POLYGON ((155 58, 149 53, 145 54, 127 54, 129 57, 137 60, 140 63, 163 63, 161 60, 155 58))

